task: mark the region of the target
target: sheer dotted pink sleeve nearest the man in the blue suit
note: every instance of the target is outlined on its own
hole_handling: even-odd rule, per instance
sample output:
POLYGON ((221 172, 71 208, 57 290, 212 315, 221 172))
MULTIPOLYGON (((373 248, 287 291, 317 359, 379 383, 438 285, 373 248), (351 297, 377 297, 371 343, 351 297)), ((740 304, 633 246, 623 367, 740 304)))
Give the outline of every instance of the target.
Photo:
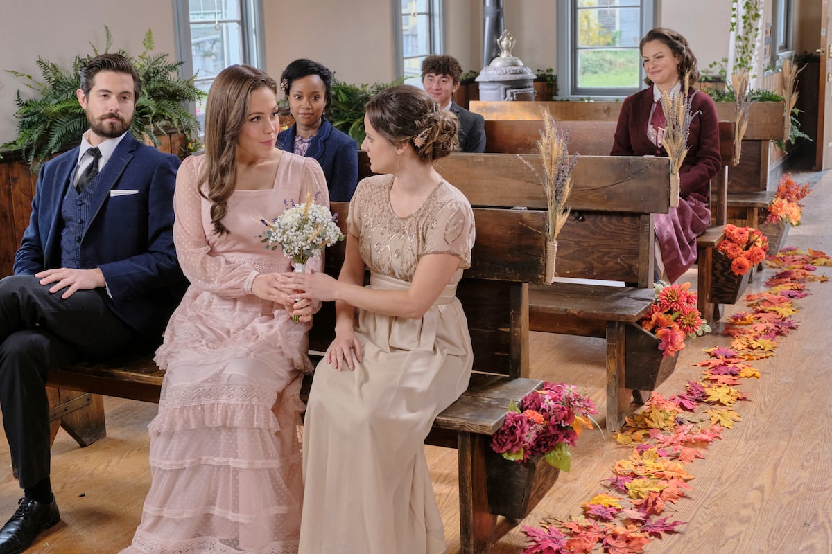
POLYGON ((247 263, 227 262, 224 257, 211 252, 206 235, 210 222, 203 224, 202 221, 203 203, 208 200, 199 193, 201 161, 201 156, 186 158, 176 174, 173 199, 176 256, 192 285, 222 297, 243 297, 251 294, 251 285, 258 272, 247 263))

